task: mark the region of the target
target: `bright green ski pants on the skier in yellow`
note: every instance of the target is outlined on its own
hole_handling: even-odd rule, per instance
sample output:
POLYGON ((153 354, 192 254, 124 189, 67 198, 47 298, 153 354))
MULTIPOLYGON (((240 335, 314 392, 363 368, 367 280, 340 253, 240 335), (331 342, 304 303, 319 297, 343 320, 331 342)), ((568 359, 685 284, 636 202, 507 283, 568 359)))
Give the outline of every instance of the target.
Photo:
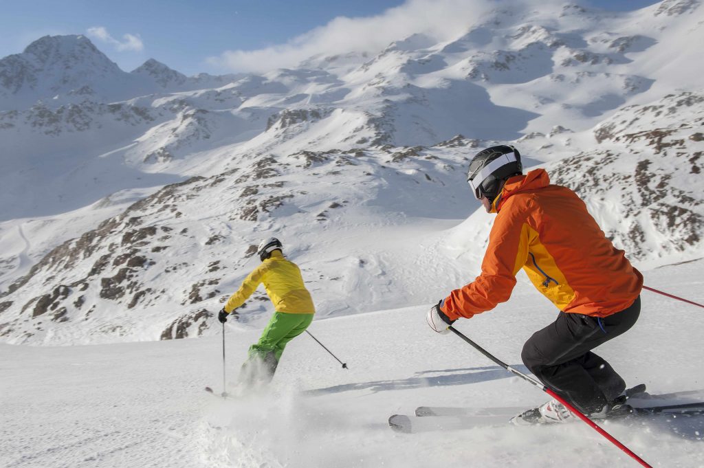
POLYGON ((274 312, 259 341, 249 347, 249 359, 258 357, 265 360, 273 353, 278 363, 287 343, 306 331, 313 322, 313 315, 274 312))

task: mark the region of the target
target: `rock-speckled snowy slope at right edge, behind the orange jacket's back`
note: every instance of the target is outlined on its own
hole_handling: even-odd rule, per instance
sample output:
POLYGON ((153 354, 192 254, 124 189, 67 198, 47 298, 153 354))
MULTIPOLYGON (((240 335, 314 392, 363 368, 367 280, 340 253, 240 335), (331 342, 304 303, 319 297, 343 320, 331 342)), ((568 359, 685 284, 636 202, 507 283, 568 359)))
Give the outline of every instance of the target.
POLYGON ((704 125, 704 111, 692 113, 702 102, 704 96, 686 92, 624 108, 594 129, 598 142, 618 150, 586 151, 551 167, 553 180, 591 201, 597 218, 610 210, 607 217, 623 220, 605 232, 631 258, 702 244, 704 196, 695 187, 703 165, 696 129, 704 125), (690 118, 683 124, 679 115, 690 118))

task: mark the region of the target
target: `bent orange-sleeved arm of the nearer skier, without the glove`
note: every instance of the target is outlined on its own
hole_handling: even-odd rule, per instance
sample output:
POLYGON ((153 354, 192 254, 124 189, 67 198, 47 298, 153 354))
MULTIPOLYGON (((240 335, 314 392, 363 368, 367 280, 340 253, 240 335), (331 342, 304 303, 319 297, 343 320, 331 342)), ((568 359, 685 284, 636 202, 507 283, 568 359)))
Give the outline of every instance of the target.
POLYGON ((528 257, 529 232, 524 213, 517 210, 497 215, 482 261, 482 274, 445 299, 442 311, 451 320, 471 318, 508 301, 516 284, 516 273, 528 257))

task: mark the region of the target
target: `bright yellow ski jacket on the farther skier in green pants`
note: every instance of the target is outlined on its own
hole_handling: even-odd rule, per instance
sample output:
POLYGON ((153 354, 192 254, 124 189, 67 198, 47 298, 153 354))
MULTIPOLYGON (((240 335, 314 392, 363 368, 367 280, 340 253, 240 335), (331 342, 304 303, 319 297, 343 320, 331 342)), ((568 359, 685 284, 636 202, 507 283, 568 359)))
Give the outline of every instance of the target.
POLYGON ((287 260, 279 251, 273 251, 271 256, 256 267, 239 286, 239 290, 230 296, 225 304, 228 314, 237 309, 251 296, 259 284, 263 283, 266 293, 274 304, 277 312, 289 314, 314 314, 315 305, 298 266, 287 260))

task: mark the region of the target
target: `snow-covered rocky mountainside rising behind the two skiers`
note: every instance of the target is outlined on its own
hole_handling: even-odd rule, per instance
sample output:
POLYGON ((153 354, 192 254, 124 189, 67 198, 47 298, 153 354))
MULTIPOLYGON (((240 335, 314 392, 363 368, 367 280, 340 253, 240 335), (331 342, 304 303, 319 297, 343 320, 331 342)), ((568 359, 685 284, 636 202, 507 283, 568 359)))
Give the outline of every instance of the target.
MULTIPOLYGON (((12 75, 34 84, 6 91, 15 108, 0 113, 0 339, 215 333, 213 312, 272 235, 320 317, 433 303, 478 272, 494 218, 465 171, 499 142, 576 190, 641 269, 699 258, 701 11, 527 3, 452 39, 225 77, 156 61, 122 72, 92 46, 76 53, 87 39, 42 38, 63 46, 35 81, 12 75), (34 99, 98 62, 103 75, 59 90, 84 84, 89 97, 34 99)), ((244 307, 250 325, 266 318, 259 299, 244 307)))

